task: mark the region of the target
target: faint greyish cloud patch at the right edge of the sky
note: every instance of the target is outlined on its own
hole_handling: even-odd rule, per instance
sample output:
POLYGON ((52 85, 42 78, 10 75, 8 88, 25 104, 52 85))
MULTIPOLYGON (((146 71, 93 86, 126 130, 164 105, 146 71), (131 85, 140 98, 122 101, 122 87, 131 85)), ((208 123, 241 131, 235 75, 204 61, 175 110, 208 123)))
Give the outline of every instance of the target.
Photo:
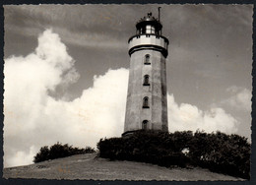
POLYGON ((222 101, 223 104, 231 106, 237 110, 250 111, 251 110, 251 96, 246 88, 232 86, 226 89, 230 97, 222 101))

